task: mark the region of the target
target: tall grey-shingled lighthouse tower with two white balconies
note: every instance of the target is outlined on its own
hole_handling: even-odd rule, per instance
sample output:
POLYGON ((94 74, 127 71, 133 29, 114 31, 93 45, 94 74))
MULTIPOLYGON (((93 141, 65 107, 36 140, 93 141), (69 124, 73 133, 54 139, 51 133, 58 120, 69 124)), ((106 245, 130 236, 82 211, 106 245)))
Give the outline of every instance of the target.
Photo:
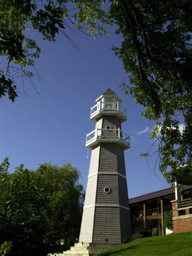
POLYGON ((119 244, 131 235, 124 150, 129 136, 122 131, 127 110, 108 89, 91 108, 95 130, 87 134, 92 149, 79 242, 119 244))

